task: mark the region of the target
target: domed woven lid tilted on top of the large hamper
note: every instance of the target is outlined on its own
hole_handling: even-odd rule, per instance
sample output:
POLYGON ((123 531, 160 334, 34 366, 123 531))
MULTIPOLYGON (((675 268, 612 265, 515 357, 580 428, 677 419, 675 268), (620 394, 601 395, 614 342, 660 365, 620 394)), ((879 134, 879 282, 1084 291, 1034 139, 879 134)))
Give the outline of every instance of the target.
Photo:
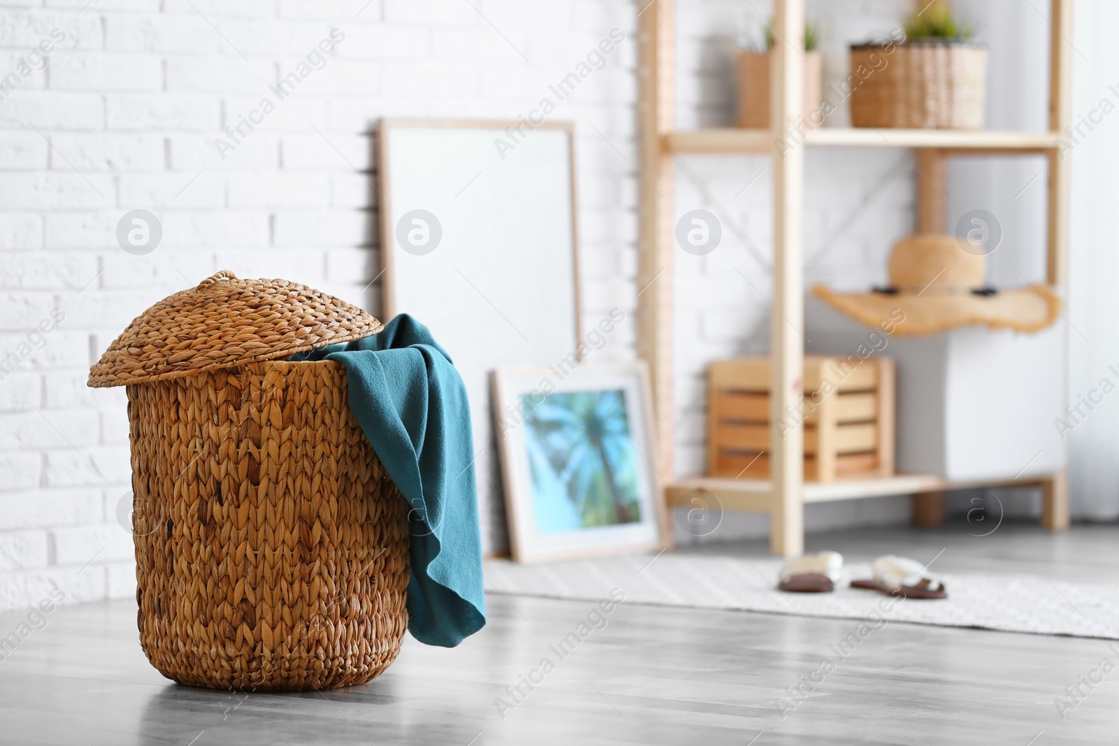
POLYGON ((349 303, 286 280, 238 280, 222 271, 132 320, 97 365, 90 386, 143 384, 283 358, 379 332, 349 303))

